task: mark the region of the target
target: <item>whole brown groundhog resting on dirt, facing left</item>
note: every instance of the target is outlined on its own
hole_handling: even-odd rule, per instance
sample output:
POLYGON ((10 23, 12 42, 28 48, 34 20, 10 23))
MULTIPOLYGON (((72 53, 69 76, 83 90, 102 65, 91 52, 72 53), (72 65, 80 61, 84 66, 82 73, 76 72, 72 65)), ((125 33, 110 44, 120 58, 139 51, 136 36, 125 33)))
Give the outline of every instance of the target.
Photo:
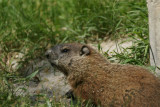
POLYGON ((145 68, 109 63, 79 43, 56 45, 45 55, 78 98, 103 107, 160 107, 160 80, 145 68))

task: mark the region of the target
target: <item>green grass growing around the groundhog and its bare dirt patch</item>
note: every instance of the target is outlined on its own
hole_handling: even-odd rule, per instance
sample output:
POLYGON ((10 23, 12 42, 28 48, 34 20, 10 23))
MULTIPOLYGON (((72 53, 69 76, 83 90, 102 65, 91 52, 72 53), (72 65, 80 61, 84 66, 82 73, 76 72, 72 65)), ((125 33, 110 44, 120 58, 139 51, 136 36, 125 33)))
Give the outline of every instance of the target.
MULTIPOLYGON (((148 65, 147 14, 146 0, 0 0, 0 104, 31 104, 28 96, 13 93, 15 83, 26 81, 18 69, 54 44, 130 36, 135 45, 112 57, 121 63, 148 65), (19 53, 23 58, 12 69, 19 53)), ((53 100, 44 99, 44 106, 54 106, 53 100)))

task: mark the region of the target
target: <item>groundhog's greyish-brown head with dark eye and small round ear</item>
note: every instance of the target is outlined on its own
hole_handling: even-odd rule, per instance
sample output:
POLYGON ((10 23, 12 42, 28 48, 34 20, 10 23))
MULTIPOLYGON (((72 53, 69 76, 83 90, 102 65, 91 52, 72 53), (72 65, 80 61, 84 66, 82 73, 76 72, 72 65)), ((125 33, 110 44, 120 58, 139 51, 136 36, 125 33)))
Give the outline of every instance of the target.
MULTIPOLYGON (((60 44, 47 50, 45 56, 51 65, 57 67, 65 75, 70 73, 70 68, 79 59, 90 56, 93 49, 84 44, 60 44)), ((81 63, 81 62, 79 62, 81 63)))

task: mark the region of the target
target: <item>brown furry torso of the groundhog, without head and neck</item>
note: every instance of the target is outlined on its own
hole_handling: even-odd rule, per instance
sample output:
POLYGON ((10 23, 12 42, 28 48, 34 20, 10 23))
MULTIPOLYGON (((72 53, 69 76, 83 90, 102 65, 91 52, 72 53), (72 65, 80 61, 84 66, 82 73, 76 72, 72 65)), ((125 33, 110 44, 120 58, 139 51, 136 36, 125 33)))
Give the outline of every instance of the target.
POLYGON ((142 67, 110 64, 105 72, 88 72, 83 79, 86 82, 75 88, 75 93, 96 104, 113 107, 160 106, 160 81, 142 67))

